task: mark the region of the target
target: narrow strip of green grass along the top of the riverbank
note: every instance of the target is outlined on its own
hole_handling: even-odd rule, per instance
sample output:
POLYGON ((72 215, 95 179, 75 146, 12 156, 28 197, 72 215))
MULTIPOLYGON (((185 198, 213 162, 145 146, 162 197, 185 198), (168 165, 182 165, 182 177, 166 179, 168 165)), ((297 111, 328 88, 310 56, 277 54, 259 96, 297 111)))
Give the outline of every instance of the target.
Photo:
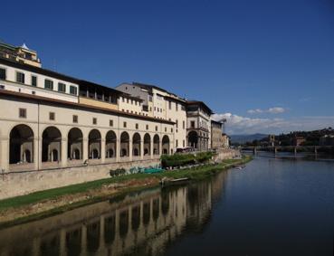
POLYGON ((165 171, 158 174, 134 174, 134 175, 123 175, 117 177, 110 177, 106 179, 91 181, 87 183, 82 183, 78 185, 68 185, 59 188, 53 188, 49 190, 44 190, 40 192, 35 192, 32 194, 26 194, 22 196, 17 196, 13 198, 8 198, 0 201, 0 211, 4 211, 8 208, 16 208, 28 204, 35 204, 37 202, 52 200, 57 197, 60 197, 65 194, 77 194, 84 193, 91 189, 100 188, 102 185, 112 184, 112 183, 121 183, 132 179, 143 179, 147 177, 157 177, 161 179, 163 177, 170 178, 181 178, 188 177, 192 180, 203 179, 209 175, 213 175, 218 171, 224 170, 233 165, 243 164, 251 160, 251 157, 246 156, 243 159, 230 159, 224 160, 219 165, 212 166, 198 166, 193 169, 183 169, 183 170, 173 170, 165 171))

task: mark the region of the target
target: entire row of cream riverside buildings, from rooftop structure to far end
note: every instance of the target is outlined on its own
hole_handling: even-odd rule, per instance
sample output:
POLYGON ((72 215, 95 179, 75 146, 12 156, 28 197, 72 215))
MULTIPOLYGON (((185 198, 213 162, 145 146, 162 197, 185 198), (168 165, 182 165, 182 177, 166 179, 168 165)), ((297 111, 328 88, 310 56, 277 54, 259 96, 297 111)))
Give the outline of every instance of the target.
POLYGON ((3 172, 155 159, 177 147, 214 144, 213 112, 202 101, 136 82, 115 90, 46 70, 26 46, 0 43, 0 52, 3 172))

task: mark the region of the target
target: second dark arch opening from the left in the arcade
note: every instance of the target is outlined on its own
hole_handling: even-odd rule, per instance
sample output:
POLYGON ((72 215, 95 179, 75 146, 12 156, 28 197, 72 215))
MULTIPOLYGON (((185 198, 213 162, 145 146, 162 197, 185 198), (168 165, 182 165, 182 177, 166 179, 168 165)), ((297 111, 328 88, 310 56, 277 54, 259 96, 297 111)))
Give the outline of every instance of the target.
POLYGON ((62 133, 58 128, 48 127, 42 135, 42 162, 58 162, 61 160, 62 133))

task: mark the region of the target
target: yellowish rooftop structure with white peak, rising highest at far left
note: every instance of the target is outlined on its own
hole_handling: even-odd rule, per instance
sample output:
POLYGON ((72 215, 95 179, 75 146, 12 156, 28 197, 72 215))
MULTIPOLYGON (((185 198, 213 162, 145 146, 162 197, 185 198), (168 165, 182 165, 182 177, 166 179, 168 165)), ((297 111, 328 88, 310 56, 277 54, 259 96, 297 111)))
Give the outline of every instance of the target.
POLYGON ((14 46, 0 42, 0 57, 38 68, 42 67, 41 61, 37 56, 37 52, 29 49, 25 43, 22 46, 14 46))

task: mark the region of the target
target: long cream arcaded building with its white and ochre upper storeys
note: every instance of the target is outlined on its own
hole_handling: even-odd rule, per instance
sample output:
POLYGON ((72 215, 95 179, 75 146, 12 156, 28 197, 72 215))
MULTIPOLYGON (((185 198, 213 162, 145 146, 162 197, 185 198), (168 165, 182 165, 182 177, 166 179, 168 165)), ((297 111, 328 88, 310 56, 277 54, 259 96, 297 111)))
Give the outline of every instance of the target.
POLYGON ((0 57, 0 169, 100 165, 171 154, 175 123, 128 93, 0 57))

